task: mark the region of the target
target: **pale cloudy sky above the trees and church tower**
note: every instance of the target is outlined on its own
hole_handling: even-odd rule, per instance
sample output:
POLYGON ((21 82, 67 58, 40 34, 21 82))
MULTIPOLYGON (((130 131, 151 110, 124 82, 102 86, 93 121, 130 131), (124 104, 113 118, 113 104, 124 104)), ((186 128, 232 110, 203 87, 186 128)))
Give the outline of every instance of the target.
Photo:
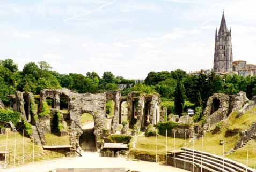
POLYGON ((47 61, 61 73, 213 68, 215 29, 224 10, 233 60, 256 64, 255 0, 0 1, 0 59, 22 69, 47 61))

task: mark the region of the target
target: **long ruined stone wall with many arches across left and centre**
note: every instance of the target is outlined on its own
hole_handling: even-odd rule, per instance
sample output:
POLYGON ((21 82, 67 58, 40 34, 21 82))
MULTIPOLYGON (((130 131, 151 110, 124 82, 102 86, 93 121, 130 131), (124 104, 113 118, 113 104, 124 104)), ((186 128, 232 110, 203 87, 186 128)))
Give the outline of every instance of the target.
POLYGON ((64 120, 69 121, 68 130, 61 131, 61 133, 69 134, 70 143, 75 150, 77 144, 79 144, 79 136, 81 136, 83 132, 80 123, 81 115, 83 113, 90 113, 93 116, 94 135, 96 136, 97 148, 100 148, 102 144, 103 130, 108 130, 109 133, 116 132, 118 124, 121 123, 121 103, 125 100, 127 100, 128 103, 129 120, 133 113, 133 101, 138 99, 138 114, 136 121, 138 128, 135 131, 136 133, 149 124, 147 123, 146 112, 149 115, 148 119, 150 123, 156 124, 160 119, 163 121, 164 113, 160 112, 160 96, 157 94, 146 95, 145 93, 142 93, 139 96, 137 95, 138 92, 132 92, 127 98, 122 98, 120 91, 107 91, 98 94, 79 94, 68 89, 43 89, 40 92, 38 112, 31 112, 28 110, 27 115, 25 111, 25 103, 28 103, 28 109, 30 109, 31 102, 32 105, 35 105, 34 95, 30 92, 16 91, 15 95, 10 95, 9 97, 13 99, 13 110, 21 112, 24 119, 31 120, 31 124, 40 136, 42 145, 46 144, 45 134, 51 132, 50 114, 49 116, 38 116, 42 110, 42 103, 45 102, 47 98, 52 99, 53 108, 51 109, 51 114, 54 114, 61 108, 61 97, 67 99, 68 114, 61 112, 61 122, 64 120), (111 116, 111 118, 106 117, 106 101, 108 100, 113 100, 115 103, 114 115, 111 116), (26 116, 29 116, 30 119, 27 119, 26 116))

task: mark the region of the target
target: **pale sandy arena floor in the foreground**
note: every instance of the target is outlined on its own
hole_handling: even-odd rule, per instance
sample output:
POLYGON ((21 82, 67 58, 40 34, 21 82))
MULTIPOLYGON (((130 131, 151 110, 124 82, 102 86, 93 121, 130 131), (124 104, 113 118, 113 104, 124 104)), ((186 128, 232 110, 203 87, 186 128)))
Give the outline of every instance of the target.
POLYGON ((141 172, 185 171, 171 166, 162 166, 154 162, 128 161, 124 158, 99 157, 98 153, 91 152, 84 152, 83 157, 39 161, 25 166, 0 171, 46 172, 56 168, 126 168, 141 172))

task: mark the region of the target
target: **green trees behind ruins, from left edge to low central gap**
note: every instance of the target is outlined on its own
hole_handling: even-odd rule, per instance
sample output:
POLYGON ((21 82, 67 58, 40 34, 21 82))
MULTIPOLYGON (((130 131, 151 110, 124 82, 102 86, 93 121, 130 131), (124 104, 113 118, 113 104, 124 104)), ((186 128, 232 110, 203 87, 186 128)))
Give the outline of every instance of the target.
POLYGON ((28 91, 39 94, 42 89, 68 88, 78 93, 99 93, 118 90, 118 84, 134 85, 134 80, 114 76, 104 72, 100 77, 96 72, 87 72, 86 76, 77 73, 60 74, 52 70, 45 61, 28 62, 19 71, 12 59, 0 60, 0 99, 8 102, 7 96, 14 91, 28 91))

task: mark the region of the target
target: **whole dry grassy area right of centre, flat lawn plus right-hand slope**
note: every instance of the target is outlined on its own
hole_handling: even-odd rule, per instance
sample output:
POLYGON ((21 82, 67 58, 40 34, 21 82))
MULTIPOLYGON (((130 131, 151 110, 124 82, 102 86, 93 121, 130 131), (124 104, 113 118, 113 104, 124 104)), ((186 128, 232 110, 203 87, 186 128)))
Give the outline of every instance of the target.
MULTIPOLYGON (((240 138, 239 131, 246 130, 250 128, 250 125, 253 122, 256 122, 256 107, 253 107, 250 111, 246 112, 244 115, 236 118, 237 112, 233 112, 228 117, 228 124, 222 124, 220 131, 213 132, 215 127, 211 129, 211 131, 206 132, 203 137, 203 151, 209 152, 217 155, 223 155, 223 146, 220 145, 220 140, 225 140, 225 152, 228 152, 233 148, 240 138), (227 134, 230 132, 227 131, 236 131, 233 134, 227 134)), ((164 136, 158 137, 158 153, 165 153, 165 140, 164 136)), ((187 140, 188 141, 188 140, 187 140)), ((130 147, 132 145, 133 140, 131 140, 130 147)), ((193 144, 186 142, 186 147, 193 148, 193 144)), ((181 148, 184 147, 184 139, 176 139, 176 147, 181 148)), ((202 138, 195 141, 195 149, 201 151, 202 147, 202 138)), ((168 150, 174 150, 174 138, 168 137, 168 150)), ((235 150, 235 152, 226 155, 225 157, 230 158, 232 160, 242 162, 246 164, 246 156, 247 150, 249 151, 249 160, 248 165, 250 167, 254 167, 254 163, 256 162, 256 141, 251 140, 246 146, 243 148, 239 148, 235 150)), ((156 137, 145 137, 139 136, 137 137, 136 151, 143 152, 147 154, 156 154, 156 137)))

